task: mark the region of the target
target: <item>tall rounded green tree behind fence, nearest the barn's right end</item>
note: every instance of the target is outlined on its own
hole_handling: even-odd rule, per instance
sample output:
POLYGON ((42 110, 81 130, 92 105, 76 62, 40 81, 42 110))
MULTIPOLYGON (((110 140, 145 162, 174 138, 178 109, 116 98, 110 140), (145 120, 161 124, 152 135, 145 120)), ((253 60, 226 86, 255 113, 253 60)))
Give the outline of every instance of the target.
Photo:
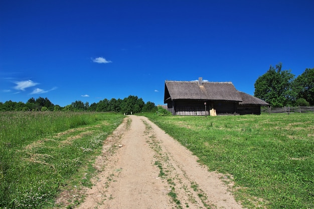
POLYGON ((264 100, 273 107, 283 107, 291 105, 295 100, 292 91, 294 75, 291 70, 281 70, 282 64, 278 63, 275 67, 258 77, 254 84, 254 96, 264 100))

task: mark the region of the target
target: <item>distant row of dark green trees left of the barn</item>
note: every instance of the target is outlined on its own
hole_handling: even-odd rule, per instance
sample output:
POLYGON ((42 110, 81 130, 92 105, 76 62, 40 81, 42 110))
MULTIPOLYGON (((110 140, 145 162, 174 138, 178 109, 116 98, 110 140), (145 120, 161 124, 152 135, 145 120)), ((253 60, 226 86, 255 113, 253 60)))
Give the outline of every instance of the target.
POLYGON ((137 96, 128 96, 124 99, 104 99, 98 103, 82 102, 77 100, 70 105, 61 107, 54 105, 49 99, 39 97, 30 98, 26 103, 6 101, 0 102, 0 111, 96 111, 96 112, 121 112, 125 114, 156 111, 157 107, 153 102, 146 102, 137 96))

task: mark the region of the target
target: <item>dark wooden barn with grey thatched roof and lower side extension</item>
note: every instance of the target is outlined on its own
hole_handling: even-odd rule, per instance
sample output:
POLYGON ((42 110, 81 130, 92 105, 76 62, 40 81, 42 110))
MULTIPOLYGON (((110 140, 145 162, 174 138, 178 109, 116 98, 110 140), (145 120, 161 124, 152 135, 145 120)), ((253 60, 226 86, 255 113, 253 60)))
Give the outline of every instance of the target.
POLYGON ((164 103, 174 115, 260 114, 260 107, 268 105, 236 90, 231 82, 204 82, 202 78, 165 81, 164 103))

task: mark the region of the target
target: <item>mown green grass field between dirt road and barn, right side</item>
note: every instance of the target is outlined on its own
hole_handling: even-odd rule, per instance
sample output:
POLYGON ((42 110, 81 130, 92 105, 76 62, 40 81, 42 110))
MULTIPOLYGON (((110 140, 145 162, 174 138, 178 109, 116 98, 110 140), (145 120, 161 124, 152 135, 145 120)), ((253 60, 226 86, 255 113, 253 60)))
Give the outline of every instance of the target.
POLYGON ((314 208, 314 114, 146 115, 210 170, 230 174, 249 208, 314 208))

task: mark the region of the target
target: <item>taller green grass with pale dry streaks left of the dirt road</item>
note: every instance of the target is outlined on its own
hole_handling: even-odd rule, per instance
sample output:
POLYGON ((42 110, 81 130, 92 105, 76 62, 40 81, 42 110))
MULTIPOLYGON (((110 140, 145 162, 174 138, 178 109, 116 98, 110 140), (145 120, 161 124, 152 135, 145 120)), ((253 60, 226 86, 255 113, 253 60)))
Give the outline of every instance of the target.
POLYGON ((92 159, 122 115, 0 113, 0 208, 42 208, 92 159))

